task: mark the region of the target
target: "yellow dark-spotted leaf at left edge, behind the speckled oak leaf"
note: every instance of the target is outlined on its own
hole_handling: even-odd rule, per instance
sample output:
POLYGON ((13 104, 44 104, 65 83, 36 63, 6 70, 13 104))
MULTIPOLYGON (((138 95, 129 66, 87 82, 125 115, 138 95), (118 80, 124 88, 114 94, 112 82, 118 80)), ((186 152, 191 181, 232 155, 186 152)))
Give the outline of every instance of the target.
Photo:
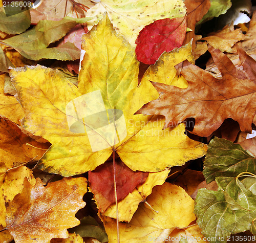
POLYGON ((35 178, 32 170, 26 166, 19 166, 7 170, 4 163, 0 163, 0 224, 6 227, 5 217, 7 203, 12 202, 14 196, 22 192, 24 187, 24 178, 28 179, 28 182, 34 186, 35 178))

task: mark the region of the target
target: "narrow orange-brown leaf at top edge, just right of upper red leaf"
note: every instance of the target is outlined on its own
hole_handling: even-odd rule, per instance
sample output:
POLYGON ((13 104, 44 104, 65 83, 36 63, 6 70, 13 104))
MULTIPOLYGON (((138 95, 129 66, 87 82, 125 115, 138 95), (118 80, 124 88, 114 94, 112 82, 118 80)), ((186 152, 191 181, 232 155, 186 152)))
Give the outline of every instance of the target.
MULTIPOLYGON (((196 23, 202 19, 202 17, 208 12, 210 8, 210 0, 185 0, 185 6, 187 8, 186 21, 187 28, 192 31, 188 31, 185 36, 184 44, 187 44, 193 39, 192 49, 193 53, 196 48, 195 40, 195 28, 196 23)), ((197 59, 197 58, 196 58, 197 59)))

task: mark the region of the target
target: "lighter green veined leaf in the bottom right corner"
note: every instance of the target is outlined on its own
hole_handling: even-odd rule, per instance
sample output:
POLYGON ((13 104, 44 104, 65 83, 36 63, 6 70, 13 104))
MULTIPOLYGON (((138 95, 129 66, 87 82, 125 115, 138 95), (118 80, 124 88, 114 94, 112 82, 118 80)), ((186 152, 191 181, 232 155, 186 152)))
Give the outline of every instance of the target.
MULTIPOLYGON (((247 190, 248 192, 248 190, 247 190)), ((227 192, 200 189, 196 198, 197 223, 210 242, 226 242, 230 234, 249 230, 255 211, 234 207, 226 201, 227 192)), ((239 204, 238 204, 239 205, 239 204)))

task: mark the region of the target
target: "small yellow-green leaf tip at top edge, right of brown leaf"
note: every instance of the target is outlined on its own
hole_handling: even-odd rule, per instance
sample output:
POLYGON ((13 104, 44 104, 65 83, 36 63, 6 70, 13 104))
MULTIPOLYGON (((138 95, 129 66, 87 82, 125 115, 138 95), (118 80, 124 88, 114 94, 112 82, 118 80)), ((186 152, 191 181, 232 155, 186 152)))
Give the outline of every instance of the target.
POLYGON ((197 24, 226 13, 231 5, 231 0, 210 0, 210 9, 197 24))

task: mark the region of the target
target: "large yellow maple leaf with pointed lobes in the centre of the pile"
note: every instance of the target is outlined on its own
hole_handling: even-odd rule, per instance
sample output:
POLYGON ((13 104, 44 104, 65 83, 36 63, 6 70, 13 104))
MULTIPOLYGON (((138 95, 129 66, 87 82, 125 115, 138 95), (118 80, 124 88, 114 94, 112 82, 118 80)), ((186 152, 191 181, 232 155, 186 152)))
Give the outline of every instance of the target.
POLYGON ((115 32, 106 15, 83 36, 82 53, 78 87, 60 72, 40 65, 11 71, 25 112, 24 127, 52 143, 38 164, 40 169, 63 176, 81 174, 103 164, 115 151, 132 170, 156 172, 205 154, 207 146, 189 139, 184 124, 162 130, 163 117, 134 115, 158 93, 146 79, 138 86, 135 50, 115 32), (84 102, 84 97, 94 105, 84 102), (111 127, 105 131, 110 133, 108 138, 97 133, 102 121, 94 110, 96 105, 102 112, 102 104, 109 112, 104 113, 106 120, 114 120, 110 124, 114 134, 111 127), (82 116, 84 109, 89 109, 90 119, 82 116), (70 110, 73 115, 67 114, 70 110), (115 119, 119 115, 120 123, 115 119), (88 136, 91 131, 98 135, 97 146, 104 143, 101 138, 109 146, 94 149, 88 136))

